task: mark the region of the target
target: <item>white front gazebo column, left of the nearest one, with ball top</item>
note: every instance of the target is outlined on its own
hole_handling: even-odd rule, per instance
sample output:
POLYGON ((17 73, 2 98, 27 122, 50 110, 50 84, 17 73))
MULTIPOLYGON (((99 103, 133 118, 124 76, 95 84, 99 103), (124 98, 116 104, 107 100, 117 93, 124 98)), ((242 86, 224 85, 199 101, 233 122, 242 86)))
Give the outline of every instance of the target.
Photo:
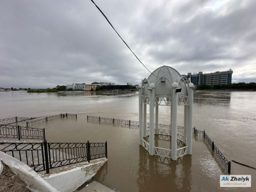
POLYGON ((154 156, 154 146, 155 146, 155 135, 154 135, 154 118, 155 118, 155 93, 154 93, 154 83, 149 85, 149 154, 154 156))

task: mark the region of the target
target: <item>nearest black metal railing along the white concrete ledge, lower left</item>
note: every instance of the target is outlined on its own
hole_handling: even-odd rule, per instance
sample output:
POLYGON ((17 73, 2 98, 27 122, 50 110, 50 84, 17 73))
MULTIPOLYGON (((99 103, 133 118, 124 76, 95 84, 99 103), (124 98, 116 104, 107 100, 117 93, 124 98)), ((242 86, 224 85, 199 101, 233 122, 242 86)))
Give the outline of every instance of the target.
POLYGON ((108 158, 106 143, 0 143, 0 150, 42 172, 68 164, 108 158))

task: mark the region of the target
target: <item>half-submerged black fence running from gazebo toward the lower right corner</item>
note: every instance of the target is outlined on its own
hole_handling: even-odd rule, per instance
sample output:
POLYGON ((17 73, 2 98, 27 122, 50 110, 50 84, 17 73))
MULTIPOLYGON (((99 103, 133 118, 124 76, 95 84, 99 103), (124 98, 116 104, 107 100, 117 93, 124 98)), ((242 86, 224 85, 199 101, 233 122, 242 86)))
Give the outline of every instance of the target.
POLYGON ((193 132, 195 134, 195 136, 202 136, 205 140, 205 142, 207 143, 207 145, 211 148, 211 150, 214 152, 214 156, 216 157, 216 159, 218 159, 218 161, 220 162, 222 168, 224 168, 225 170, 227 170, 228 173, 231 173, 231 162, 228 161, 228 159, 223 156, 223 154, 220 152, 220 150, 218 149, 218 147, 216 147, 216 145, 214 145, 214 141, 212 141, 209 136, 205 133, 205 131, 200 131, 195 129, 195 127, 193 128, 193 132))

